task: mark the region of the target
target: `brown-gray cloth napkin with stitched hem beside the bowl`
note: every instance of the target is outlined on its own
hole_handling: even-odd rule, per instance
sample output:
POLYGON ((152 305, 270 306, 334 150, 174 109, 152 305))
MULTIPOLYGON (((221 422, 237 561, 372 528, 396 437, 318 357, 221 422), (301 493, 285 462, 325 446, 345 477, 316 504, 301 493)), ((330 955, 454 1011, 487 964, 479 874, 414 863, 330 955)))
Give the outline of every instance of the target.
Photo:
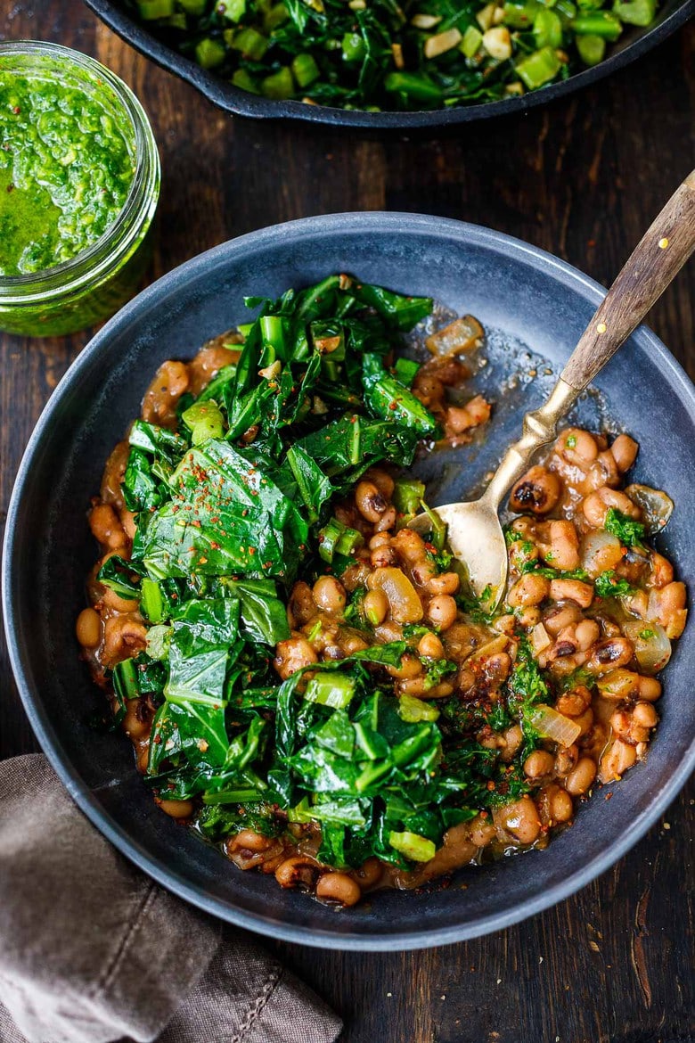
POLYGON ((243 931, 123 858, 45 757, 0 763, 0 1043, 333 1043, 243 931))

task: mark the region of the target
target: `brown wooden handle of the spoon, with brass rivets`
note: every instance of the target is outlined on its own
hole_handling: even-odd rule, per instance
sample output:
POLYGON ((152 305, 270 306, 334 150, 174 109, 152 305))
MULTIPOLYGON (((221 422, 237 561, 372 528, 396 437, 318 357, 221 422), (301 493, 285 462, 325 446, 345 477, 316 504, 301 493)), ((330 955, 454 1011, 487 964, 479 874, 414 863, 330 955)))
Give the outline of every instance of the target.
POLYGON ((563 369, 576 391, 596 373, 642 321, 695 250, 695 170, 671 196, 606 293, 563 369))

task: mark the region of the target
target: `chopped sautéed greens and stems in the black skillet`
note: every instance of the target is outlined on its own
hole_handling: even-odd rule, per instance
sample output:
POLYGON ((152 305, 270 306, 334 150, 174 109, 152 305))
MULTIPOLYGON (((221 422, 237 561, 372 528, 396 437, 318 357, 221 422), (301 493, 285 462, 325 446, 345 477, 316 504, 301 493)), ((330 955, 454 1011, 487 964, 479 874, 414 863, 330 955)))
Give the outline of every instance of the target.
POLYGON ((368 112, 478 104, 602 60, 656 0, 127 0, 170 46, 235 87, 368 112))

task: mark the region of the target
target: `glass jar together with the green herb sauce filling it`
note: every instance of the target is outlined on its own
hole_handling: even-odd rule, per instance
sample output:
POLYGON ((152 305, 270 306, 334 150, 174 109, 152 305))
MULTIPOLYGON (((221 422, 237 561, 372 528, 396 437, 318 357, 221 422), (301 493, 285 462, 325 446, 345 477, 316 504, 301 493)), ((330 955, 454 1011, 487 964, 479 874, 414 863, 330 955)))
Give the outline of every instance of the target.
POLYGON ((133 296, 159 156, 126 84, 41 41, 0 42, 0 330, 83 330, 133 296))

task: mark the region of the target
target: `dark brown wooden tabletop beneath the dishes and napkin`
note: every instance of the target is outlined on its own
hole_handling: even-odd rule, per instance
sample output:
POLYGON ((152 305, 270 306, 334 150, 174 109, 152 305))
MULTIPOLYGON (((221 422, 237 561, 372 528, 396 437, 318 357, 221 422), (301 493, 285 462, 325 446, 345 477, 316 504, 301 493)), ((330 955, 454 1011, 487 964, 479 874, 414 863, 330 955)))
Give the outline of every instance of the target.
MULTIPOLYGON (((607 283, 694 165, 695 25, 591 90, 443 141, 231 120, 78 0, 3 0, 0 39, 23 37, 93 54, 145 103, 164 165, 153 276, 277 221, 401 210, 491 225, 607 283)), ((694 312, 691 265, 650 316, 691 377, 694 312)), ((88 339, 0 335, 2 522, 33 423, 88 339)), ((0 756, 10 756, 36 746, 4 646, 0 656, 0 756)), ((695 1040, 694 804, 691 787, 599 880, 503 933, 413 953, 276 948, 343 1015, 344 1043, 695 1040)))

